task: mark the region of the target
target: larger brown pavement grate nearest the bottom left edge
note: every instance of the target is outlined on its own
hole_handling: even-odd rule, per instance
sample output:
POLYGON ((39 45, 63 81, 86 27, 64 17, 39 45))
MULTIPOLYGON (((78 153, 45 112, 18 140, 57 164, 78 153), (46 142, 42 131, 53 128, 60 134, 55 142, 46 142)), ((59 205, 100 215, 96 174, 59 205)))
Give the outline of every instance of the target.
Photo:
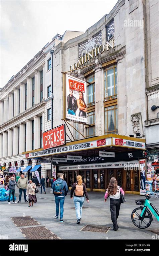
POLYGON ((26 239, 52 239, 52 240, 58 240, 61 239, 57 235, 55 235, 53 232, 51 232, 49 229, 47 229, 44 226, 39 227, 31 227, 31 228, 21 228, 20 231, 22 232, 23 236, 26 239))

